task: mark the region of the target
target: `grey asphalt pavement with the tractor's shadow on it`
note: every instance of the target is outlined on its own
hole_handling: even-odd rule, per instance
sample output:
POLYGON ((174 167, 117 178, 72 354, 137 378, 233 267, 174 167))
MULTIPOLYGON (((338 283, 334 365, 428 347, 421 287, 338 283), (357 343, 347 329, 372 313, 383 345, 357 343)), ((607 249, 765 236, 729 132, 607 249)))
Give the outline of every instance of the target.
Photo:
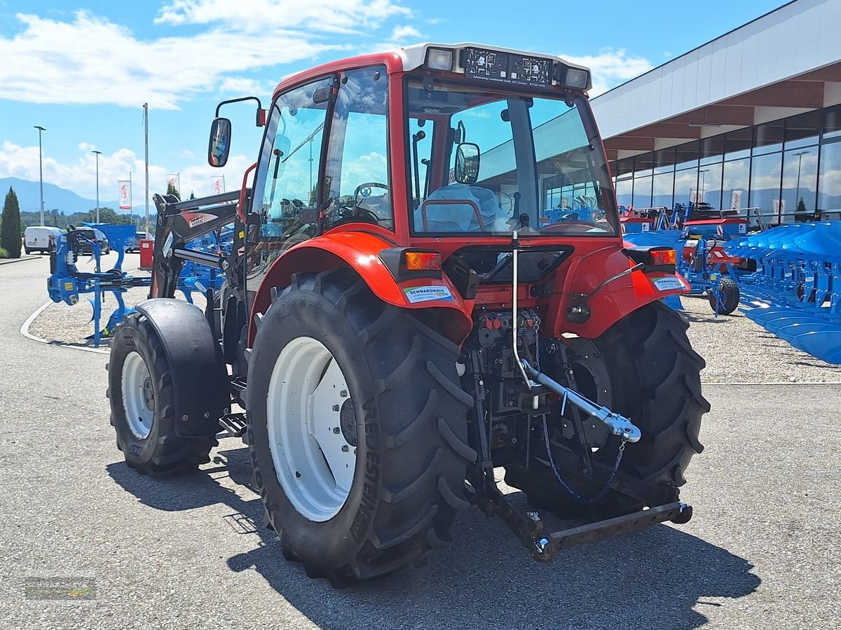
POLYGON ((334 591, 262 528, 241 441, 180 479, 124 465, 107 355, 19 333, 47 273, 45 257, 0 266, 0 627, 837 626, 841 386, 707 386, 685 525, 537 564, 473 508, 426 567, 334 591), (30 598, 45 578, 77 596, 30 598))

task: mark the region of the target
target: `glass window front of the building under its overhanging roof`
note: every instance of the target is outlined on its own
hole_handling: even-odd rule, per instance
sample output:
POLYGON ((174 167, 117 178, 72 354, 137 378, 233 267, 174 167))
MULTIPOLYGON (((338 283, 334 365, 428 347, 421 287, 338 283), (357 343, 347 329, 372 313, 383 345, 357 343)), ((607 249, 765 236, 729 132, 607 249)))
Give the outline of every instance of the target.
POLYGON ((841 105, 623 158, 611 169, 625 207, 706 202, 760 213, 766 224, 841 219, 841 105))

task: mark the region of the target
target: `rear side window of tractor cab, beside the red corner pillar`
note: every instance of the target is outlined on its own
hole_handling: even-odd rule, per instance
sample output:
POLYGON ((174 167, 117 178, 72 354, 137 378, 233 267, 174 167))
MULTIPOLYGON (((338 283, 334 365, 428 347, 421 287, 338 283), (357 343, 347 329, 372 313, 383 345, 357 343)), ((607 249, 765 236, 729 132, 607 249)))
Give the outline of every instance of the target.
POLYGON ((325 228, 362 222, 393 229, 385 66, 341 74, 330 129, 325 228))

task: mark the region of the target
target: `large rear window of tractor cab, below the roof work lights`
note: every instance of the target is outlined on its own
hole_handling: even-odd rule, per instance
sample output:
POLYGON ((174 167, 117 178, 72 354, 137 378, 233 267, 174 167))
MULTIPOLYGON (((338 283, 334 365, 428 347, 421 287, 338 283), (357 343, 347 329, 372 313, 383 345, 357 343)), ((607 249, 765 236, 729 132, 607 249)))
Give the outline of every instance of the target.
POLYGON ((413 234, 617 233, 611 178, 583 97, 410 78, 406 101, 413 234))

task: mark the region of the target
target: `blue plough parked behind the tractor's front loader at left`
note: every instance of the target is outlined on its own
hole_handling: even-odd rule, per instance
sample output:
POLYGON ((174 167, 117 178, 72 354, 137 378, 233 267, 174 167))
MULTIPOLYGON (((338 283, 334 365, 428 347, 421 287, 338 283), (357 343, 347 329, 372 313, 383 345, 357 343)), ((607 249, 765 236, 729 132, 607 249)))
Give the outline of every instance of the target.
MULTIPOLYGON (((79 296, 93 293, 90 298, 93 307, 93 344, 98 346, 103 337, 114 334, 114 328, 126 315, 134 312, 133 307, 126 307, 123 294, 135 286, 151 286, 150 276, 130 276, 122 270, 124 251, 135 239, 132 225, 111 225, 108 223, 83 223, 89 228, 97 228, 108 239, 111 249, 117 251, 117 261, 112 269, 102 270, 102 244, 96 239, 88 239, 81 230, 69 229, 61 234, 50 250, 50 277, 47 279, 47 292, 53 302, 65 302, 73 306, 79 302, 79 296), (81 271, 77 261, 83 249, 91 249, 94 261, 93 271, 81 271), (101 328, 103 292, 110 292, 117 302, 117 307, 108 317, 108 322, 101 328)), ((189 244, 190 251, 196 255, 213 255, 213 252, 230 250, 232 234, 220 230, 220 234, 209 234, 189 244)), ((200 260, 188 260, 178 276, 177 290, 181 291, 188 302, 193 302, 193 291, 198 291, 213 303, 214 291, 219 291, 225 273, 203 264, 200 260)))

